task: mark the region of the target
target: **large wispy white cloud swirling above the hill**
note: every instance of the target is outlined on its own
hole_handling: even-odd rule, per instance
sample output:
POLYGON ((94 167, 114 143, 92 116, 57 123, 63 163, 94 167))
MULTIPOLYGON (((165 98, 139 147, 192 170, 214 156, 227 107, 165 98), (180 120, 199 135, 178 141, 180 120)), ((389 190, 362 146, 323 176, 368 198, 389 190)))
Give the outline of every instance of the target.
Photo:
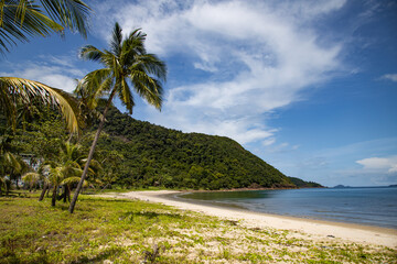
POLYGON ((147 110, 151 121, 248 143, 273 134, 264 124, 264 113, 302 100, 302 90, 341 68, 342 45, 320 45, 314 21, 344 3, 108 1, 97 13, 100 21, 111 16, 106 20, 108 26, 103 26, 104 37, 109 36, 111 21, 119 21, 125 32, 142 28, 149 52, 186 61, 192 75, 206 73, 206 79, 190 82, 192 76, 170 72, 184 85, 176 81, 169 87, 161 114, 147 110), (120 4, 121 12, 111 12, 120 4))

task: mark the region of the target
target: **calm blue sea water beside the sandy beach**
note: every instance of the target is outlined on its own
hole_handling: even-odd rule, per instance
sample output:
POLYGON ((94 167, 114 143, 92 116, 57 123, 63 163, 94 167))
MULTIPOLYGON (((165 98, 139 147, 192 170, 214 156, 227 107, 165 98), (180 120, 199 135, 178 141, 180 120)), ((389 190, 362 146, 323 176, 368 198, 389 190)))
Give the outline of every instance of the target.
POLYGON ((257 212, 397 229, 397 188, 191 193, 180 197, 257 212))

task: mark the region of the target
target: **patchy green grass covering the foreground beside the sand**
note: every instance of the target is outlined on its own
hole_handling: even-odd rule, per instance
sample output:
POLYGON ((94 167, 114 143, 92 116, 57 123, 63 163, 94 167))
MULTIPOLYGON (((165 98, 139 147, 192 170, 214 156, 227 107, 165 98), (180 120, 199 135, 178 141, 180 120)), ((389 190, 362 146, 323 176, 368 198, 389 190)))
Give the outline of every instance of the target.
POLYGON ((397 251, 178 210, 82 196, 0 198, 0 263, 397 263, 397 251))

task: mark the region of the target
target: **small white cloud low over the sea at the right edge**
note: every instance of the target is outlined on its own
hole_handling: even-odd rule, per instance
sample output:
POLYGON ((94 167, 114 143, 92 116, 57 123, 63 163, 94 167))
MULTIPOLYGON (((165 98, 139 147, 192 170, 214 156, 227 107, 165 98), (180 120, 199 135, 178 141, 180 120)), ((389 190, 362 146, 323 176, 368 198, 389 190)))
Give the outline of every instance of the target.
POLYGON ((365 170, 375 173, 397 173, 397 156, 388 157, 368 157, 356 161, 364 166, 365 170))

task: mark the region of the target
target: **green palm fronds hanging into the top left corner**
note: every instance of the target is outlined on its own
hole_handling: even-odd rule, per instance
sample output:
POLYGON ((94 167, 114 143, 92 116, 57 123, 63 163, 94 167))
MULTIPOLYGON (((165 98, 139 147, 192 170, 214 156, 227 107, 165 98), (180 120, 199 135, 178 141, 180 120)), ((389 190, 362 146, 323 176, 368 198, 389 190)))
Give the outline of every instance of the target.
POLYGON ((87 36, 90 9, 81 0, 0 1, 0 53, 30 36, 63 34, 65 28, 87 36))

